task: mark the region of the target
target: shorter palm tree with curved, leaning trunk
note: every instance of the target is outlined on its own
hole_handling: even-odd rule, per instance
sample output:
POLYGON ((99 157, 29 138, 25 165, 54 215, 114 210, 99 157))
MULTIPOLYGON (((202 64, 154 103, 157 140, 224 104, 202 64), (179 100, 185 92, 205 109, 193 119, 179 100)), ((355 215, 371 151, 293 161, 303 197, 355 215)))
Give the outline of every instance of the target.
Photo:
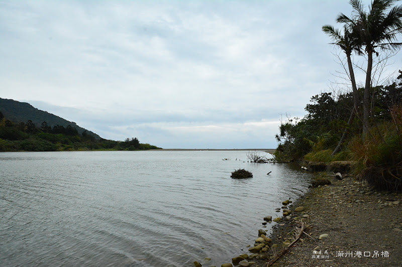
MULTIPOLYGON (((342 49, 342 51, 346 54, 346 59, 348 62, 348 69, 349 69, 349 77, 350 77, 350 81, 352 83, 353 103, 354 103, 354 107, 352 109, 352 112, 351 112, 349 120, 348 120, 348 125, 351 125, 353 122, 353 119, 355 117, 355 113, 357 113, 359 104, 360 104, 359 93, 357 91, 355 74, 353 71, 352 58, 351 58, 352 52, 355 52, 359 55, 362 54, 361 49, 360 49, 361 44, 359 42, 360 41, 359 36, 356 34, 356 32, 352 31, 352 28, 348 27, 347 25, 345 25, 343 28, 343 34, 338 29, 335 29, 331 25, 324 25, 322 29, 334 41, 334 43, 331 43, 331 44, 340 47, 342 49)), ((347 128, 344 130, 341 140, 338 143, 338 146, 332 152, 332 156, 334 156, 336 153, 338 153, 340 151, 341 145, 346 138, 346 133, 347 133, 347 128)))

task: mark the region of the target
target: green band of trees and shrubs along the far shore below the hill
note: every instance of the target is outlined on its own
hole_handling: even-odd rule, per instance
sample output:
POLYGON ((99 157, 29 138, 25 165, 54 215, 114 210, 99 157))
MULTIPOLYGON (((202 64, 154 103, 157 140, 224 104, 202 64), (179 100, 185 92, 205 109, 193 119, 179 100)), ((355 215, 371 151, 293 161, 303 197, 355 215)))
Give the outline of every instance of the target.
POLYGON ((123 142, 99 139, 87 131, 78 133, 71 125, 51 127, 44 121, 38 128, 32 120, 16 123, 4 117, 0 111, 0 152, 150 149, 158 147, 141 144, 137 138, 127 138, 123 142))

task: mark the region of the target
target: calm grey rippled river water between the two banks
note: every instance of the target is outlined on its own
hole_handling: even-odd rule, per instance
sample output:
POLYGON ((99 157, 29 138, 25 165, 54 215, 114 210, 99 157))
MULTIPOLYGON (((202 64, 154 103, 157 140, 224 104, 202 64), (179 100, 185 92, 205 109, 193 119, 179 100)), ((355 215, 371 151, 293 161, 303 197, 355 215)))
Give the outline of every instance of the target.
POLYGON ((2 153, 0 165, 5 266, 220 265, 310 179, 242 151, 2 153), (239 168, 253 178, 230 178, 239 168))

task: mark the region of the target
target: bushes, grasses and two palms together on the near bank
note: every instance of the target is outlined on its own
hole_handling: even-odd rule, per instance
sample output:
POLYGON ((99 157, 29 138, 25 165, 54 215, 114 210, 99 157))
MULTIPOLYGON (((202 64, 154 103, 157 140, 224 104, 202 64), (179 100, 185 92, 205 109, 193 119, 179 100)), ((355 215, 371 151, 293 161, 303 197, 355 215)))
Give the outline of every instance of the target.
POLYGON ((276 135, 275 161, 354 161, 357 177, 377 189, 402 190, 402 71, 393 81, 375 85, 372 71, 373 57, 377 67, 385 66, 381 60, 402 46, 396 39, 402 33, 402 6, 394 2, 374 0, 367 12, 361 1, 351 0, 352 16, 337 18, 342 30, 323 27, 345 53, 351 88, 313 96, 301 119, 287 116, 276 135), (366 68, 357 67, 353 56, 366 60, 366 68), (366 74, 360 88, 355 68, 366 74))

